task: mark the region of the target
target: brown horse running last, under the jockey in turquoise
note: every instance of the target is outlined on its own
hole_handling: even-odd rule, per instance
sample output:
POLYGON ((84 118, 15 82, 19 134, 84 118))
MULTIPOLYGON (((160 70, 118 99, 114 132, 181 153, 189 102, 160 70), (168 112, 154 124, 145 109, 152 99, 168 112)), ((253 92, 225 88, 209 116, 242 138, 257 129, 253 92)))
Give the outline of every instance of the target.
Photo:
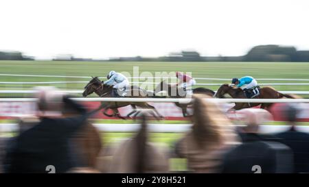
MULTIPOLYGON (((234 99, 247 99, 247 97, 244 95, 244 91, 241 88, 231 86, 229 84, 222 84, 214 97, 224 98, 225 94, 230 95, 234 99)), ((265 86, 260 88, 260 95, 255 97, 255 99, 281 99, 283 97, 295 99, 295 97, 290 95, 277 92, 270 86, 265 86)), ((229 110, 240 110, 242 108, 251 108, 258 105, 261 105, 261 108, 264 109, 269 108, 271 105, 273 105, 273 103, 235 103, 235 106, 229 110)))

